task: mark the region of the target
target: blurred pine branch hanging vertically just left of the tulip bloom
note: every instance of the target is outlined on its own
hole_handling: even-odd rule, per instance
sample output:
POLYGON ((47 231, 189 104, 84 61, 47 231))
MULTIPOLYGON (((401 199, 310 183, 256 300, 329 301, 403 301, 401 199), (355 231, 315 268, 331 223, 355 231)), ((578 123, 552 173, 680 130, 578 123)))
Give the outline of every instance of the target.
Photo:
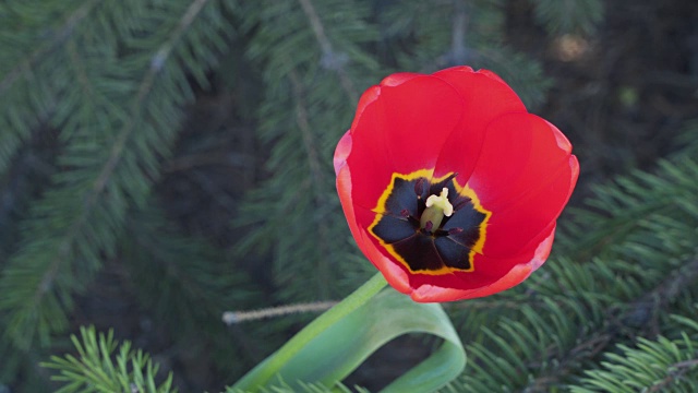
POLYGON ((256 19, 245 20, 254 33, 248 56, 264 70, 257 134, 273 145, 265 169, 274 177, 245 198, 236 225, 246 235, 237 254, 270 252, 284 301, 335 298, 357 286, 335 285, 335 266, 345 265, 351 249, 346 224, 327 219, 340 214, 330 157, 348 127, 341 124, 350 123, 354 86, 366 85, 374 67, 361 47, 375 37, 365 22, 366 4, 301 5, 266 4, 248 12, 256 19), (333 17, 344 22, 324 22, 333 17))

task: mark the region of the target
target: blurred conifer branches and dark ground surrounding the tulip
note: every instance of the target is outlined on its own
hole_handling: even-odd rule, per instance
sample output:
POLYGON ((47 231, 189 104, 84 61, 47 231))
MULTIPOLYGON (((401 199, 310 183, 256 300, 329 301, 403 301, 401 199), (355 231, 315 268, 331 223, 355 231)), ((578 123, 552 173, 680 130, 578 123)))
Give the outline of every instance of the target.
MULTIPOLYGON (((363 90, 456 64, 507 81, 581 175, 545 266, 445 305, 469 365, 444 391, 698 391, 697 2, 9 0, 0 392, 57 389, 39 362, 84 325, 180 391, 234 382, 313 314, 224 311, 338 300, 374 273, 332 169, 363 90)), ((433 346, 399 338, 347 383, 433 346)))

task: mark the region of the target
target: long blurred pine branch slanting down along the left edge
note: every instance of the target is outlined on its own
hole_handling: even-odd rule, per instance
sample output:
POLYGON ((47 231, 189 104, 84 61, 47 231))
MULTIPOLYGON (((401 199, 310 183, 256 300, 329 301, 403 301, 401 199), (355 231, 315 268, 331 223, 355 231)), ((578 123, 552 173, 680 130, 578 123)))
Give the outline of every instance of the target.
POLYGON ((73 88, 64 93, 71 99, 56 114, 65 143, 59 163, 67 170, 35 203, 25 240, 0 278, 0 290, 8 294, 0 301, 9 313, 7 333, 20 345, 28 346, 36 335, 47 343, 51 332, 67 326, 73 294, 84 290, 103 254, 113 255, 128 206, 144 205, 159 158, 177 135, 178 107, 191 98, 185 72, 203 74, 215 59, 201 47, 221 43, 216 34, 222 20, 201 19, 219 10, 205 4, 171 2, 157 9, 156 17, 141 15, 152 10, 139 4, 101 4, 94 19, 125 14, 132 17, 128 27, 110 21, 112 32, 95 35, 93 28, 104 24, 85 20, 64 45, 73 61, 56 68, 74 72, 79 81, 67 86, 73 88), (94 36, 104 41, 79 44, 94 36), (122 41, 112 41, 115 36, 122 41), (119 45, 133 51, 119 58, 119 45))

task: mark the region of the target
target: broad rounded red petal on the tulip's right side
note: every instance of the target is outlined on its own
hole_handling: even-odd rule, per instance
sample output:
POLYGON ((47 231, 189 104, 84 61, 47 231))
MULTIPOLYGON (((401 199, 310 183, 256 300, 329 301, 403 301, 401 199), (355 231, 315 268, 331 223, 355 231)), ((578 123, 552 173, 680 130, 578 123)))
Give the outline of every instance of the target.
POLYGON ((508 258, 554 222, 579 172, 571 146, 547 121, 505 115, 488 128, 468 186, 492 216, 483 253, 508 258))

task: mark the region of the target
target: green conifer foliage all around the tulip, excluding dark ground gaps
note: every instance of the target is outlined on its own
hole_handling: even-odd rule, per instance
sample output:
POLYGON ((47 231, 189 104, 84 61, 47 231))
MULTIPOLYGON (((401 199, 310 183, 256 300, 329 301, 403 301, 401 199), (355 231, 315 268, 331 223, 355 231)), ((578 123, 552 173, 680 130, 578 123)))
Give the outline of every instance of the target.
MULTIPOLYGON (((395 71, 467 63, 502 75, 533 112, 545 103, 553 81, 508 45, 509 3, 2 2, 0 391, 232 384, 311 315, 226 329, 224 311, 337 300, 373 273, 332 168, 363 90, 395 71), (188 109, 221 91, 234 92, 226 110, 263 152, 253 181, 225 180, 244 196, 226 195, 236 211, 222 241, 173 219, 161 198, 177 147, 220 134, 210 124, 186 133, 188 109), (165 336, 169 355, 147 348, 166 360, 159 367, 135 340, 81 327, 92 321, 76 310, 107 265, 118 266, 132 312, 165 336), (184 354, 216 380, 193 382, 184 354)), ((605 14, 598 0, 517 3, 551 39, 593 35, 605 14)), ((698 390, 694 120, 673 154, 583 192, 529 281, 446 307, 468 366, 444 392, 698 390)))

